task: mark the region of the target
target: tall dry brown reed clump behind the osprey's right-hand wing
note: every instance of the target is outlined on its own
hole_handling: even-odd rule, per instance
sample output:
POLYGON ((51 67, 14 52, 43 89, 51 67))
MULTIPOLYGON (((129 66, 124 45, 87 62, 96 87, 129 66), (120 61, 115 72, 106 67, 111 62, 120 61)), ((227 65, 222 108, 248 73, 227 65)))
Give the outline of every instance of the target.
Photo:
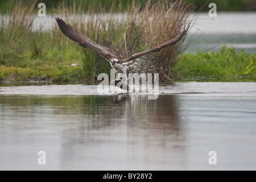
MULTIPOLYGON (((155 3, 148 1, 137 16, 137 22, 134 21, 134 28, 139 32, 137 34, 139 39, 133 40, 134 36, 130 37, 131 42, 138 42, 137 45, 131 47, 139 45, 141 50, 130 49, 129 55, 142 51, 142 49, 159 46, 159 44, 175 38, 181 33, 184 26, 190 24, 189 15, 192 11, 193 6, 184 1, 157 1, 155 3)), ((134 32, 133 29, 130 34, 132 32, 134 32)), ((162 82, 170 81, 170 69, 181 48, 182 42, 162 49, 160 52, 141 57, 135 71, 159 73, 162 82)))

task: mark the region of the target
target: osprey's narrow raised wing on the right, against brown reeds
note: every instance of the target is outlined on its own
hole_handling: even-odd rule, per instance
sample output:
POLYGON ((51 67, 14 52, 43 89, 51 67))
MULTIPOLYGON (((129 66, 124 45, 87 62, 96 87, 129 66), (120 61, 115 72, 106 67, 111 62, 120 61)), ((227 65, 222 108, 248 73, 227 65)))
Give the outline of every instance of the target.
POLYGON ((136 59, 136 58, 138 58, 138 57, 147 55, 148 53, 158 52, 158 51, 160 51, 162 48, 165 48, 165 47, 172 46, 172 45, 176 44, 176 43, 179 42, 179 41, 183 38, 183 36, 187 33, 188 29, 189 29, 189 26, 188 26, 186 29, 184 28, 183 32, 181 32, 181 34, 179 34, 178 36, 176 36, 176 38, 171 39, 171 40, 169 40, 168 42, 163 43, 163 44, 161 44, 161 45, 158 46, 158 47, 155 47, 155 48, 152 48, 152 49, 148 49, 148 50, 146 50, 146 51, 142 51, 142 52, 136 53, 135 55, 132 55, 132 56, 128 57, 127 59, 123 59, 123 60, 121 61, 121 63, 126 63, 126 62, 131 61, 131 60, 134 60, 134 59, 136 59))

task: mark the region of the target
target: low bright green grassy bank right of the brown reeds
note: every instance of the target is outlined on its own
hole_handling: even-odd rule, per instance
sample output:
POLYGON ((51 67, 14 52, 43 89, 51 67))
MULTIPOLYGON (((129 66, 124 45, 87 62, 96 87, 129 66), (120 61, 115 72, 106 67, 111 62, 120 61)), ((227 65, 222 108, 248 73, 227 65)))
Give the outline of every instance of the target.
POLYGON ((179 81, 256 81, 256 54, 226 46, 211 53, 184 53, 173 71, 179 81))

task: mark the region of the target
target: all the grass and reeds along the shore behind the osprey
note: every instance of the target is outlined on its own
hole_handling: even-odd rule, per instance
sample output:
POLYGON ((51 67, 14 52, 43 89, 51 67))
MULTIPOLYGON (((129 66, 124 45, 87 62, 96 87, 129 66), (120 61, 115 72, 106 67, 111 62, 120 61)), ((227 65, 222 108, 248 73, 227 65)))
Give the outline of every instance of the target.
MULTIPOLYGON (((26 6, 23 6, 23 2, 15 2, 7 26, 3 22, 0 24, 0 83, 97 84, 99 73, 109 75, 111 67, 108 61, 69 40, 59 30, 57 23, 51 31, 32 32, 34 22, 30 17, 35 9, 38 10, 38 1, 30 1, 26 6), (78 66, 71 67, 72 64, 78 66)), ((72 2, 52 5, 56 6, 54 13, 61 15, 92 40, 123 56, 174 38, 185 25, 191 23, 188 17, 196 8, 183 0, 173 1, 175 3, 170 1, 168 4, 166 1, 131 1, 133 3, 127 3, 127 6, 122 6, 120 1, 113 1, 111 7, 104 4, 98 6, 98 12, 93 5, 88 6, 86 11, 91 18, 85 22, 72 16, 75 13, 82 14, 85 7, 77 6, 79 1, 72 2), (117 10, 129 14, 129 18, 117 20, 111 15, 117 10), (110 14, 104 20, 97 17, 98 13, 106 11, 110 14)), ((255 53, 236 52, 234 48, 224 46, 220 51, 192 55, 182 53, 181 50, 186 46, 181 42, 160 53, 144 56, 137 69, 130 71, 159 73, 160 84, 193 80, 256 81, 255 53)))

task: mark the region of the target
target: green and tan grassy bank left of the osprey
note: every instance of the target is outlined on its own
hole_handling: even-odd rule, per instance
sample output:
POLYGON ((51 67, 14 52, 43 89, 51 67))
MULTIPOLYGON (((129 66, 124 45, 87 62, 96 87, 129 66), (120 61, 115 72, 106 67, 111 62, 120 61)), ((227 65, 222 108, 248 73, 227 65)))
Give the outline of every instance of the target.
POLYGON ((36 1, 26 6, 24 1, 16 1, 6 18, 8 22, 0 24, 0 80, 65 82, 76 76, 82 81, 81 68, 65 67, 76 62, 80 48, 68 44, 57 28, 48 32, 32 30, 35 5, 36 1))

